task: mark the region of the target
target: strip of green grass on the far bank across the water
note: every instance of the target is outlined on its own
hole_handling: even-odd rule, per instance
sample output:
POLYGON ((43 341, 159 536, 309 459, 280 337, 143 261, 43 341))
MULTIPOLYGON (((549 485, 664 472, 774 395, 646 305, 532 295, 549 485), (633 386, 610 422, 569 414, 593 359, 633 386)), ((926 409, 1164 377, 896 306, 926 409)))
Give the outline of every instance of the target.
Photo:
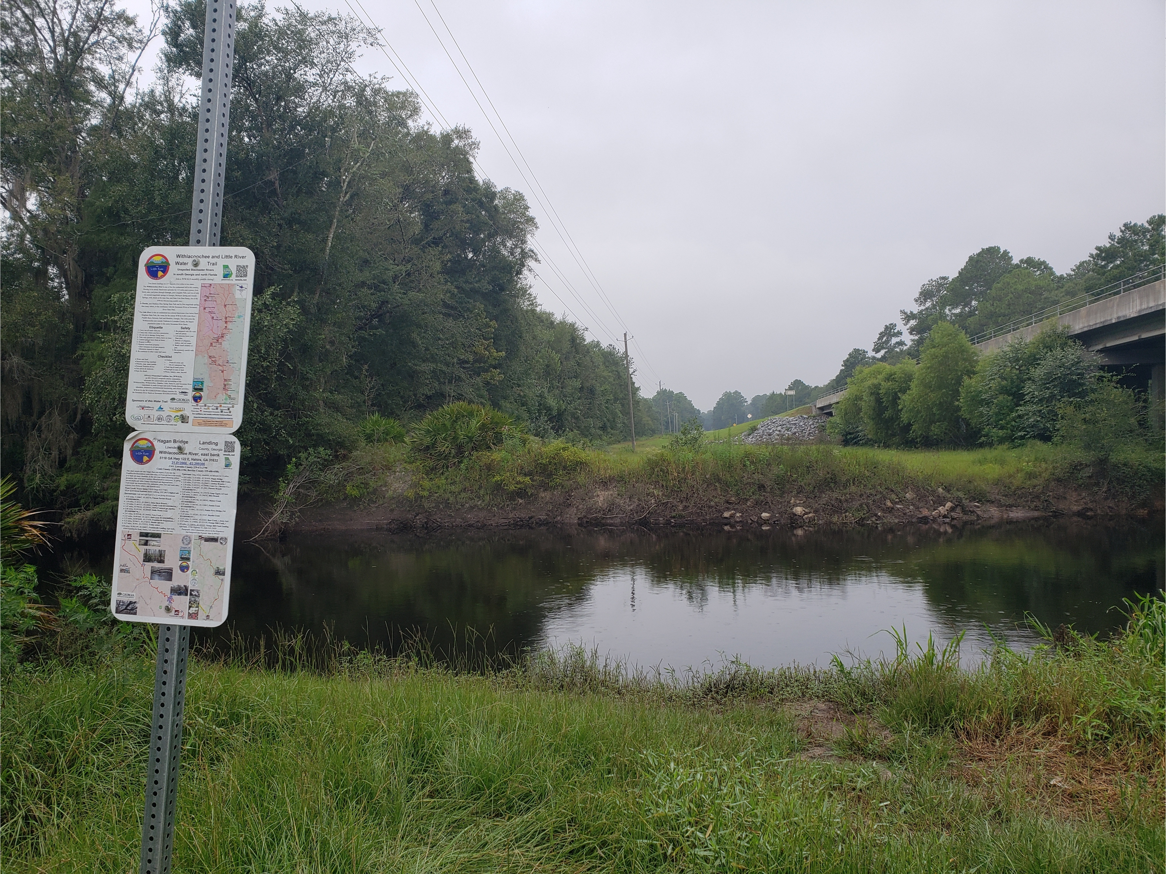
POLYGON ((605 495, 609 506, 666 507, 697 517, 723 509, 719 505, 729 499, 772 510, 787 499, 814 495, 823 510, 820 522, 849 523, 873 517, 890 498, 912 503, 907 493, 932 501, 927 507, 951 499, 1048 509, 1069 493, 1149 506, 1160 503, 1166 475, 1160 452, 1139 450, 1102 467, 1081 450, 1035 442, 971 450, 705 442, 698 451, 672 451, 659 447, 661 438, 652 439, 658 443, 646 440, 635 453, 562 443, 507 445, 448 471, 410 467, 402 447, 370 447, 353 456, 354 473, 345 488, 365 501, 405 499, 435 509, 605 495), (402 477, 402 471, 410 473, 402 477))

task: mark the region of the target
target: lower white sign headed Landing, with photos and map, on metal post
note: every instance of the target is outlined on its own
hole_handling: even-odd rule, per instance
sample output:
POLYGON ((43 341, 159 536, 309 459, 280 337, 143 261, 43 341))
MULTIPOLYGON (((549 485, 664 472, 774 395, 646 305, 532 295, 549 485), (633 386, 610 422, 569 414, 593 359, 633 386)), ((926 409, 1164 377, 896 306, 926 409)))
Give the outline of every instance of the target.
POLYGON ((118 619, 223 623, 238 491, 239 444, 231 435, 126 438, 110 604, 118 619))

